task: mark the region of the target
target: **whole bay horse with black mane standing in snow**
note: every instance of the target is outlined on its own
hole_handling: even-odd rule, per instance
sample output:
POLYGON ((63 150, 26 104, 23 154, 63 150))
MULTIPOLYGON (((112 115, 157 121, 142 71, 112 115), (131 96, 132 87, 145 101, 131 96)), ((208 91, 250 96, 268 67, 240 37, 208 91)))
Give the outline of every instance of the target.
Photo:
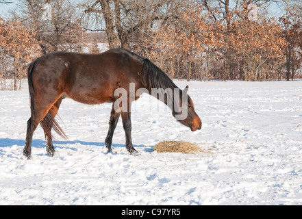
MULTIPOLYGON (((114 91, 118 88, 129 91, 130 83, 135 84, 135 90, 145 88, 149 94, 153 88, 177 88, 158 66, 126 49, 110 49, 99 54, 47 53, 29 65, 27 77, 31 109, 23 150, 23 155, 27 159, 31 157, 32 136, 39 124, 45 132, 46 150, 49 155, 55 153, 51 129, 67 139, 55 120, 60 104, 66 97, 85 104, 113 103, 109 130, 105 138, 108 153, 112 152, 112 137, 120 116, 125 130, 126 149, 129 153, 137 153, 131 142, 131 112, 114 109, 114 102, 118 99, 118 96, 114 96, 114 91)), ((179 96, 187 96, 185 90, 188 90, 188 86, 180 90, 179 96)), ((192 99, 190 96, 187 97, 188 103, 184 105, 188 114, 179 122, 196 131, 201 129, 201 119, 194 111, 192 99)), ((138 98, 139 96, 134 100, 128 98, 126 109, 129 109, 131 102, 138 98)), ((172 107, 172 114, 176 118, 179 112, 172 107)))

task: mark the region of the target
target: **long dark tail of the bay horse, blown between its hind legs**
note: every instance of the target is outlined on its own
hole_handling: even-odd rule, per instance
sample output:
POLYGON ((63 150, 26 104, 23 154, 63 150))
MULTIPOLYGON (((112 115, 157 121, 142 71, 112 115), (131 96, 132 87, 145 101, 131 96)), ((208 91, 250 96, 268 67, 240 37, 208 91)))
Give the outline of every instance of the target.
MULTIPOLYGON (((34 84, 32 82, 32 74, 34 72, 35 64, 36 64, 36 60, 29 65, 28 70, 27 70, 27 80, 28 80, 29 98, 30 98, 30 110, 32 112, 32 116, 35 113, 35 98, 36 98, 36 92, 34 90, 34 84)), ((58 121, 55 120, 55 118, 53 117, 53 114, 55 114, 55 112, 53 112, 53 110, 54 110, 53 107, 51 107, 49 112, 47 112, 45 118, 43 118, 40 121, 40 126, 42 127, 42 129, 45 131, 46 135, 49 138, 53 139, 53 135, 51 134, 51 129, 53 129, 56 133, 58 133, 59 136, 68 140, 68 137, 66 136, 66 134, 64 133, 64 131, 58 124, 58 121)), ((34 123, 33 120, 32 120, 32 123, 34 123)), ((32 124, 32 125, 37 126, 38 124, 32 124)))

